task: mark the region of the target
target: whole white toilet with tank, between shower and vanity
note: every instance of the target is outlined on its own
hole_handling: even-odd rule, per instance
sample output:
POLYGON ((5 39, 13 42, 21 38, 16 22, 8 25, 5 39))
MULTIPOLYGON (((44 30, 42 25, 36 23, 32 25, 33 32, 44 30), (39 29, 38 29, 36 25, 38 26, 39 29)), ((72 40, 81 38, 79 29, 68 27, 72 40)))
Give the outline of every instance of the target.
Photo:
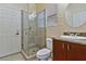
POLYGON ((40 61, 48 61, 50 59, 51 55, 51 51, 52 51, 52 39, 51 38, 47 38, 46 40, 47 42, 47 48, 40 49, 37 53, 36 56, 38 60, 40 61))

